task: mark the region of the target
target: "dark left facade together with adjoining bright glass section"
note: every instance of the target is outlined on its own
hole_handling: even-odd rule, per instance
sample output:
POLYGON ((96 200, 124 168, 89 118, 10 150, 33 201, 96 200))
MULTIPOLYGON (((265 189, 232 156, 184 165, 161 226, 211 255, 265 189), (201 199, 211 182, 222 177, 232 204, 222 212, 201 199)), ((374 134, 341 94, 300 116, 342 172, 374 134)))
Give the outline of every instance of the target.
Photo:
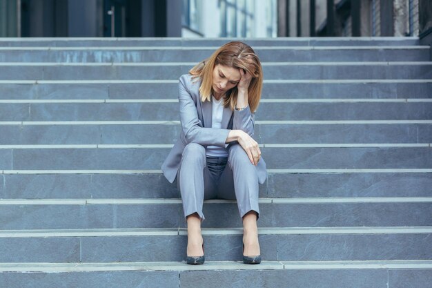
POLYGON ((277 0, 0 0, 0 37, 277 37, 277 0))

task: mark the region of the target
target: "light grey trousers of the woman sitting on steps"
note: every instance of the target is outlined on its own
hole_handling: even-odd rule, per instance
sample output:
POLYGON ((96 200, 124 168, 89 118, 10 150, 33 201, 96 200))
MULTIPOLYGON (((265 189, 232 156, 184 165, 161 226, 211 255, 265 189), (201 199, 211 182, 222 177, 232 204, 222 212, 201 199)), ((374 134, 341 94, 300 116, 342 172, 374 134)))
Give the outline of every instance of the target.
POLYGON ((177 171, 177 186, 185 218, 198 213, 204 220, 204 199, 237 199, 241 217, 249 211, 259 215, 257 170, 239 144, 228 146, 228 158, 206 157, 204 146, 186 145, 177 171))

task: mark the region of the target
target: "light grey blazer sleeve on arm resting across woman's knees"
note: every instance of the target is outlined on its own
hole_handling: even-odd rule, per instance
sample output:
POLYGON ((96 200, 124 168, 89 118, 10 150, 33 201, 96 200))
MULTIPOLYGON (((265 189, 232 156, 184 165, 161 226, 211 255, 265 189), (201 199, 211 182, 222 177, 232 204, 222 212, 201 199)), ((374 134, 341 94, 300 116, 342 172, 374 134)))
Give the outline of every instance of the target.
MULTIPOLYGON (((181 129, 186 137, 186 143, 197 143, 203 146, 215 145, 226 147, 229 129, 203 127, 198 117, 197 106, 190 93, 190 80, 187 75, 180 77, 179 108, 181 129)), ((198 94, 196 94, 198 95, 198 94)), ((199 98, 199 95, 198 95, 199 98)), ((201 99, 196 99, 201 101, 201 99)))

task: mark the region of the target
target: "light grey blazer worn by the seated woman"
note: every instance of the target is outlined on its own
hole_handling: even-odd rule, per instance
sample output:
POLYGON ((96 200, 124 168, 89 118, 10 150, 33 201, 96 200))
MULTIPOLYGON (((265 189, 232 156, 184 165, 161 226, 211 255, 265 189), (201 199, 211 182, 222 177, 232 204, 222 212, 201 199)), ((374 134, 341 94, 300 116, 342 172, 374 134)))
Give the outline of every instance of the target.
MULTIPOLYGON (((199 97, 199 79, 192 80, 192 75, 181 75, 179 83, 179 106, 181 135, 171 149, 168 157, 162 164, 162 171, 166 179, 173 183, 180 166, 181 154, 189 143, 197 143, 203 146, 215 145, 226 147, 226 137, 232 129, 245 131, 253 136, 254 116, 249 107, 242 111, 231 111, 224 108, 222 127, 211 128, 212 104, 201 102, 199 97)), ((237 143, 237 142, 233 142, 237 143)), ((261 158, 257 164, 257 175, 260 184, 266 181, 266 162, 261 158)))

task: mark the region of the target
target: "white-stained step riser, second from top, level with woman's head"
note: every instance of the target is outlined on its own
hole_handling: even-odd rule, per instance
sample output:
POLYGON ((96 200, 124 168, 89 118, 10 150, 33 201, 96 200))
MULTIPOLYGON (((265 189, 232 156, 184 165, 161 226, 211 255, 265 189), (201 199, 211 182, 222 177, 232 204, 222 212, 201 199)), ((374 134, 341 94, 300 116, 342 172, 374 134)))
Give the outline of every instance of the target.
MULTIPOLYGON (((0 62, 197 62, 217 47, 0 47, 0 62)), ((429 61, 429 46, 253 48, 260 61, 429 61)))

